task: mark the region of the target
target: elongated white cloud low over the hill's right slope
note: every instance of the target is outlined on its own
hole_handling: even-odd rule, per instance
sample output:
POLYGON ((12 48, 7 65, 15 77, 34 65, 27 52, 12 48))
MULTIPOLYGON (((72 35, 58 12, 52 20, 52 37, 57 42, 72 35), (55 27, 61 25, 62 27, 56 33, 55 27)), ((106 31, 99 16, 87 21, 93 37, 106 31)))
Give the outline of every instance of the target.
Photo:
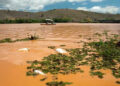
POLYGON ((106 6, 106 7, 93 6, 92 8, 78 7, 77 10, 116 14, 120 11, 120 8, 116 6, 106 6))

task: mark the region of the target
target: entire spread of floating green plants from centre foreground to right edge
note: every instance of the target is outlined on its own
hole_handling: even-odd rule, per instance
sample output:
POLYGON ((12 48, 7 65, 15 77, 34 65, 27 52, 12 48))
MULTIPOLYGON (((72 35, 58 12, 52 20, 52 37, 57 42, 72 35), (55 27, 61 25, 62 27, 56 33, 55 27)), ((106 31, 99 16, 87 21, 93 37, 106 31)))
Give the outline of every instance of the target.
MULTIPOLYGON (((109 69, 115 78, 120 78, 120 47, 118 46, 120 35, 108 35, 108 32, 96 35, 104 36, 104 39, 84 42, 83 48, 66 49, 69 55, 51 54, 44 57, 42 61, 29 61, 28 74, 36 75, 34 70, 41 70, 53 76, 83 73, 84 70, 81 70, 80 67, 87 65, 90 66, 91 76, 98 76, 102 79, 105 73, 102 73, 101 69, 109 69)), ((44 81, 44 79, 41 81, 44 81)), ((65 86, 57 85, 59 82, 54 79, 48 83, 47 86, 65 86)), ((118 81, 116 83, 119 84, 118 81)))

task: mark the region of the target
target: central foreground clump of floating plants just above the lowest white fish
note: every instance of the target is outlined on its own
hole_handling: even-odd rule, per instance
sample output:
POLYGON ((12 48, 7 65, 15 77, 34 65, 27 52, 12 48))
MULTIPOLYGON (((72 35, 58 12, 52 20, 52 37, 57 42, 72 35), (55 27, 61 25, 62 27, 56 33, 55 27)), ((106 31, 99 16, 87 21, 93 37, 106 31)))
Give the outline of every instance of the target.
POLYGON ((81 72, 81 69, 76 67, 78 65, 77 60, 79 60, 78 57, 51 54, 48 57, 44 57, 43 61, 33 61, 28 69, 32 69, 32 71, 39 69, 44 73, 51 73, 53 75, 81 72))

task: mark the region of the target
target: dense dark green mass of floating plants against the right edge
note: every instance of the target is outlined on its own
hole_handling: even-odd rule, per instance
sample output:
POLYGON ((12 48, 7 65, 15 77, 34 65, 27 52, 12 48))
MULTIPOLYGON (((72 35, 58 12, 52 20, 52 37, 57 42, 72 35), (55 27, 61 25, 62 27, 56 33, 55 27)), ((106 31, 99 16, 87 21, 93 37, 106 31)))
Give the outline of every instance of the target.
MULTIPOLYGON (((117 46, 119 42, 119 35, 108 36, 107 32, 103 35, 106 37, 104 40, 88 43, 86 48, 90 58, 89 61, 91 70, 110 69, 116 78, 120 78, 120 47, 117 46)), ((102 78, 103 73, 91 72, 93 75, 100 75, 102 78)))

